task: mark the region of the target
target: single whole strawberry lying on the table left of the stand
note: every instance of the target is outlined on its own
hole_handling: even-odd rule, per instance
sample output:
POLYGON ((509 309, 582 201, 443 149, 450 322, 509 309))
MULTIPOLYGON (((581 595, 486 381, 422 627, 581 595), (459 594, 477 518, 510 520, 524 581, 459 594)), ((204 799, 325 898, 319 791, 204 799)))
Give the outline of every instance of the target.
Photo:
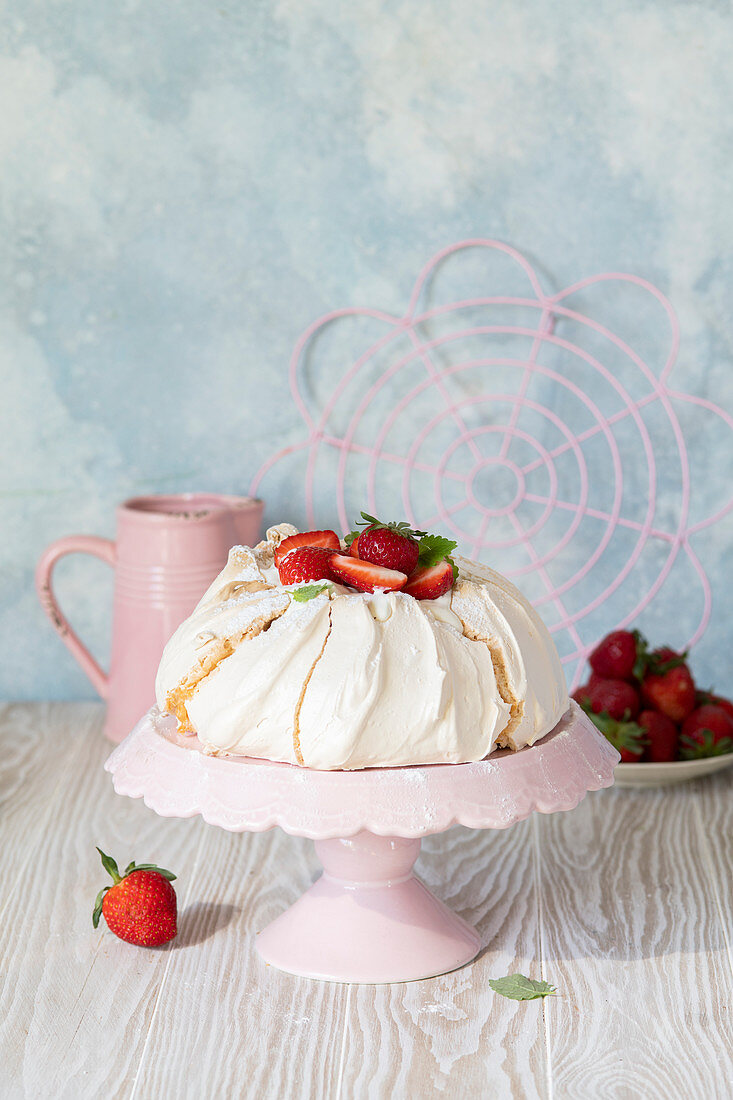
POLYGON ((160 947, 173 939, 177 930, 175 875, 154 864, 130 864, 120 875, 111 856, 97 848, 102 867, 112 877, 111 887, 97 894, 91 922, 95 928, 103 915, 107 927, 120 939, 139 947, 160 947))

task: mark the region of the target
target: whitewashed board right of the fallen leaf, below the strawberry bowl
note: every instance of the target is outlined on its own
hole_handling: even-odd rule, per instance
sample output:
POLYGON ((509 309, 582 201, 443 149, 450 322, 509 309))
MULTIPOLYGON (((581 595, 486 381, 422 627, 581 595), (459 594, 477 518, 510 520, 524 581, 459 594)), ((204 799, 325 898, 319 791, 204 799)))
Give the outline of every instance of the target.
POLYGON ((554 1094, 730 1096, 733 987, 683 784, 538 818, 554 1094))

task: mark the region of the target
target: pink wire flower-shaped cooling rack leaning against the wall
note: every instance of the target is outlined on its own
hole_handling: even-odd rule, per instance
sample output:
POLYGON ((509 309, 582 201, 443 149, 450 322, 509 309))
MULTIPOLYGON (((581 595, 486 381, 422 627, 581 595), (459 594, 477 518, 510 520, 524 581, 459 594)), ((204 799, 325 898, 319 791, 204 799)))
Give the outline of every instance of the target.
POLYGON ((306 435, 251 492, 281 468, 280 495, 291 514, 300 497, 311 526, 336 510, 346 532, 366 505, 450 535, 527 592, 575 685, 600 634, 635 624, 676 569, 678 598, 697 587, 688 645, 710 619, 690 538, 733 498, 692 515, 680 409, 718 418, 705 435, 733 418, 670 387, 678 346, 669 301, 643 278, 606 273, 546 294, 515 249, 460 242, 425 265, 404 316, 339 309, 306 329, 289 367, 306 435))

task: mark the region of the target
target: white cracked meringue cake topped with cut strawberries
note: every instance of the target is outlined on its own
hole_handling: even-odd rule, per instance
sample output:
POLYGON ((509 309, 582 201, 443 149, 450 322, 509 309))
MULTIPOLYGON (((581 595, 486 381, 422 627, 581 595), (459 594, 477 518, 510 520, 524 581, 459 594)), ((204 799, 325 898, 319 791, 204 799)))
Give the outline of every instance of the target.
POLYGON ((455 546, 373 520, 346 546, 280 524, 232 547, 165 647, 158 708, 207 754, 320 770, 533 745, 568 707, 557 650, 517 588, 455 546))

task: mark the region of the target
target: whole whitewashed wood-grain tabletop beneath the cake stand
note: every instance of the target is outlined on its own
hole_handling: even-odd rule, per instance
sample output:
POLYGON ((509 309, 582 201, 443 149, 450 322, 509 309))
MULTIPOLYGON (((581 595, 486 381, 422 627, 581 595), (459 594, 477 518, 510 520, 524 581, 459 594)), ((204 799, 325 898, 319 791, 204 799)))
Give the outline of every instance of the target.
POLYGON ((0 707, 3 1100, 733 1096, 733 770, 428 838, 418 872, 479 927, 479 959, 321 985, 253 948, 313 880, 309 842, 119 798, 101 717, 0 707), (173 944, 92 930, 95 845, 177 872, 173 944), (494 994, 488 979, 513 971, 559 996, 494 994))

